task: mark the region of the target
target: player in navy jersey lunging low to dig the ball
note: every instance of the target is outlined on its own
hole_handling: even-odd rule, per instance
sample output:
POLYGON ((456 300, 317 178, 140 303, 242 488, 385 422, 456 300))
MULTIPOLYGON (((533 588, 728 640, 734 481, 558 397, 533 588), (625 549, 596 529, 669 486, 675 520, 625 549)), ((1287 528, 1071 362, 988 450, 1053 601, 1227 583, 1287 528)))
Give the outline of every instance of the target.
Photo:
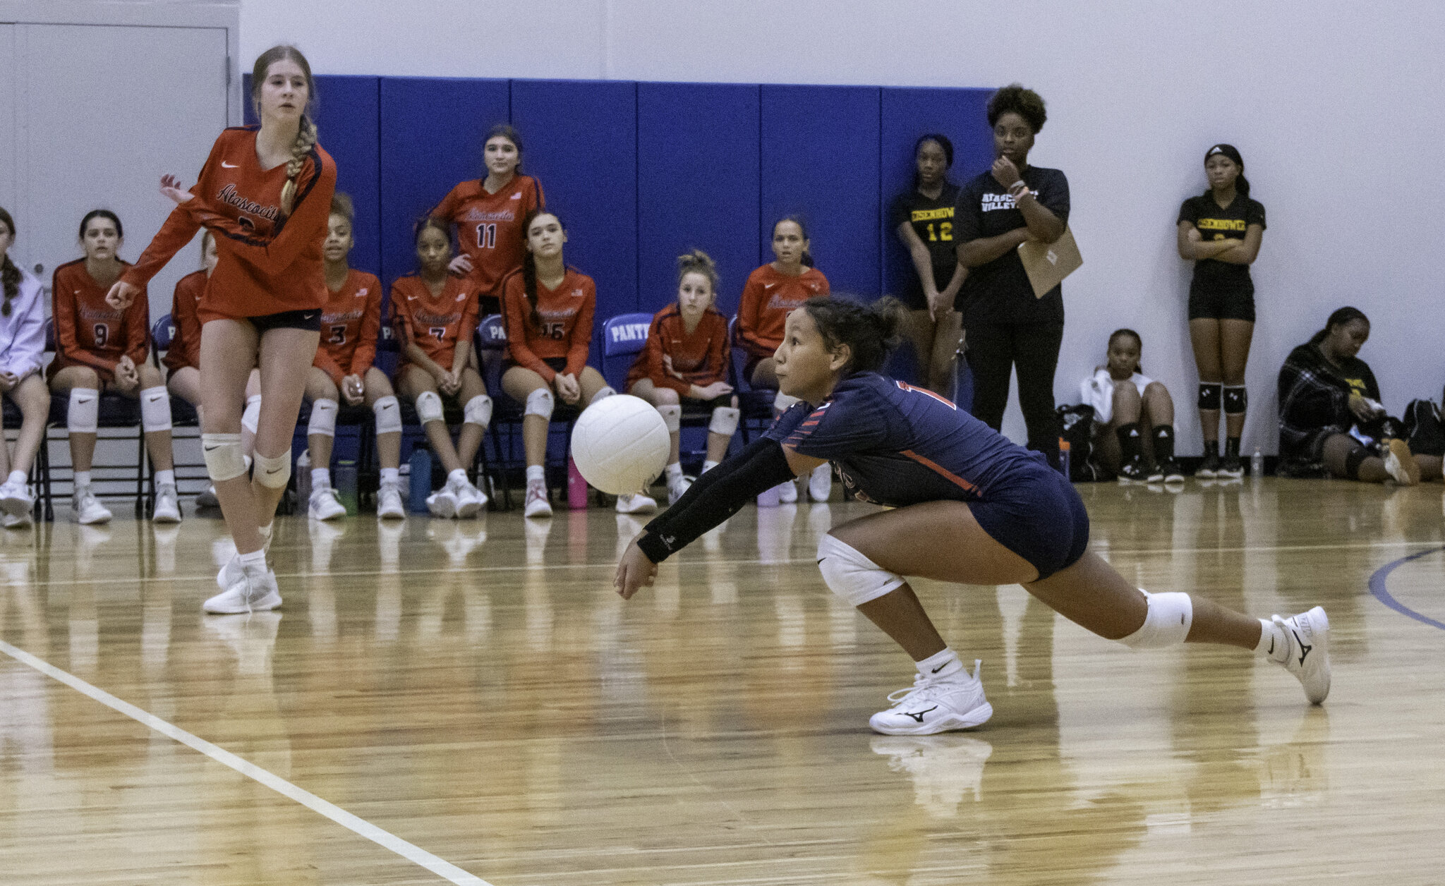
POLYGON ((1325 610, 1253 619, 1204 597, 1149 593, 1088 549, 1088 515, 1038 452, 1014 445, 931 392, 879 374, 899 304, 814 298, 788 317, 775 356, 780 390, 802 403, 760 439, 708 471, 627 546, 616 587, 630 598, 657 564, 757 493, 831 461, 860 499, 892 506, 834 528, 818 543, 832 590, 913 658, 918 678, 868 724, 931 734, 993 715, 978 668, 968 674, 905 575, 959 584, 1022 584, 1088 630, 1134 649, 1221 643, 1253 649, 1293 674, 1319 704, 1329 694, 1325 610))

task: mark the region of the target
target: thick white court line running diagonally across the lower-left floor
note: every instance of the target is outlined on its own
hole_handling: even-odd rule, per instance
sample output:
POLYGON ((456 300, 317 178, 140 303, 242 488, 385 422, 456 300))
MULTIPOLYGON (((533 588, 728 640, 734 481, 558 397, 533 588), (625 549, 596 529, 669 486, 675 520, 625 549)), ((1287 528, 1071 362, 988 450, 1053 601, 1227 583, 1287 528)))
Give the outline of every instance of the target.
POLYGON ((205 739, 198 739, 191 733, 185 731, 184 728, 166 723, 160 717, 156 717, 155 714, 137 708, 129 701, 121 701, 120 698, 116 698, 110 692, 98 689, 91 684, 85 682, 84 679, 75 676, 74 674, 61 671, 55 665, 51 665, 49 662, 45 662, 23 649, 16 649, 10 643, 0 640, 0 652, 9 655, 10 658, 23 665, 35 668, 36 671, 39 671, 46 676, 58 679, 59 682, 68 685, 77 692, 88 695, 90 698, 101 702, 108 708, 120 711, 121 714, 130 717, 131 720, 143 726, 149 726, 150 728, 156 730, 162 736, 166 736, 168 739, 173 739, 185 744, 186 747, 199 750, 201 753, 211 757, 217 763, 230 766, 231 769, 240 772, 246 778, 256 779, 257 782, 266 785, 276 793, 280 793, 288 799, 296 801, 298 804, 306 807, 312 812, 319 812, 325 815, 327 818, 340 824, 341 827, 366 837, 371 843, 376 843, 383 848, 392 850, 397 856, 402 856, 403 859, 412 861, 413 864, 425 867, 426 870, 432 872, 439 877, 445 877, 447 880, 457 883, 458 886, 491 886, 491 883, 467 873, 465 870, 457 867, 451 861, 438 859, 436 856, 420 848, 419 846, 410 844, 406 840, 397 837, 396 834, 383 831, 370 821, 366 821, 364 818, 357 818, 355 815, 347 812, 341 807, 329 804, 316 796, 315 793, 303 791, 296 785, 292 785, 286 779, 273 775, 262 769, 260 766, 256 766, 254 763, 249 763, 247 760, 243 760, 241 757, 236 756, 228 750, 211 744, 205 739))

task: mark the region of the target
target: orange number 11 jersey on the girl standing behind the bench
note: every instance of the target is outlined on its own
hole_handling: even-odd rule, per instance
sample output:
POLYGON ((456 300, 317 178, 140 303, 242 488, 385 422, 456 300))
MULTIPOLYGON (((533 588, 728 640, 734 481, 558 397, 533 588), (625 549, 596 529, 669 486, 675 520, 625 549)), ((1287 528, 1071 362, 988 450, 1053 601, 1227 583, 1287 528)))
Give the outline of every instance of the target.
POLYGON ((457 243, 471 259, 468 280, 483 296, 497 298, 501 282, 526 257, 522 220, 545 205, 542 184, 530 175, 517 175, 496 194, 488 194, 481 179, 461 182, 431 214, 457 225, 457 243))

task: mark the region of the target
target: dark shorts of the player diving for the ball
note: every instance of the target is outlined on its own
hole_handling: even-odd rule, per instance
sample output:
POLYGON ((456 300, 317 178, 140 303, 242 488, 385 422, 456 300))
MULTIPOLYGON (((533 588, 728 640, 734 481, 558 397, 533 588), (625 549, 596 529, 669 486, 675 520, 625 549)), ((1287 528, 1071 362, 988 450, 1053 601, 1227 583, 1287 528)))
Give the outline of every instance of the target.
POLYGON ((994 484, 968 510, 991 539, 1033 564, 1042 581, 1072 567, 1088 548, 1088 512, 1064 474, 1042 460, 1038 468, 994 484))

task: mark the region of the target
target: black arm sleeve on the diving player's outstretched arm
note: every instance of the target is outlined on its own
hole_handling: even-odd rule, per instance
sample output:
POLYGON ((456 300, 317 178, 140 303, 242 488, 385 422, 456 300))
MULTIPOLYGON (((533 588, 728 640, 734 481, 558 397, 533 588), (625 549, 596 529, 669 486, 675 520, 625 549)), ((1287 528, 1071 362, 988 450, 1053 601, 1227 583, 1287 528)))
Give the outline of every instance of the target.
POLYGON ((676 504, 647 523, 637 546, 659 564, 736 515, 759 493, 792 478, 783 447, 767 436, 754 439, 736 458, 698 477, 676 504))

